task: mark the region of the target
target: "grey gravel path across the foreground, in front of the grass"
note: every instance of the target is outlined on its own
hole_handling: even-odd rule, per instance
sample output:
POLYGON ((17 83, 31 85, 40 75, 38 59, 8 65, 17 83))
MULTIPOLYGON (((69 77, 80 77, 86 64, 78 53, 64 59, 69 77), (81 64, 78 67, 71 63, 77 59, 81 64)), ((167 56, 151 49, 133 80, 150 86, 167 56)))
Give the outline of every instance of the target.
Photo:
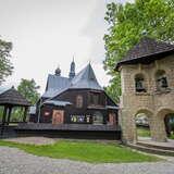
POLYGON ((91 164, 28 154, 0 147, 0 174, 174 174, 174 158, 167 162, 91 164))

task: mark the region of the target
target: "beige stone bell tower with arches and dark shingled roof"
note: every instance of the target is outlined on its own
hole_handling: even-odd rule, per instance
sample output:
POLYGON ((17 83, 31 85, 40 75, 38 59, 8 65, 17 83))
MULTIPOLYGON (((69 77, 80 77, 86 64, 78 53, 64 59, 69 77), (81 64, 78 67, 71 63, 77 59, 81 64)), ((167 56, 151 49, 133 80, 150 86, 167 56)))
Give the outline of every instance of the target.
POLYGON ((123 140, 137 140, 135 115, 144 112, 149 117, 151 138, 166 141, 166 115, 174 113, 174 46, 142 38, 123 61, 120 115, 123 140))

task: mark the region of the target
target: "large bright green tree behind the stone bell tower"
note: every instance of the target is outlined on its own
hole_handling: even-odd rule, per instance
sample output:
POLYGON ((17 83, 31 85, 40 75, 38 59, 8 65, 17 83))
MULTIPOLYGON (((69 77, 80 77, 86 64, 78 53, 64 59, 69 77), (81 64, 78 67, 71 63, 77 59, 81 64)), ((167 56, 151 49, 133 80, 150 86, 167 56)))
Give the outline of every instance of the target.
POLYGON ((104 70, 113 78, 108 86, 115 101, 121 95, 120 73, 115 64, 145 35, 159 40, 174 41, 174 1, 173 0, 135 0, 134 3, 109 3, 105 21, 109 33, 104 36, 104 70))

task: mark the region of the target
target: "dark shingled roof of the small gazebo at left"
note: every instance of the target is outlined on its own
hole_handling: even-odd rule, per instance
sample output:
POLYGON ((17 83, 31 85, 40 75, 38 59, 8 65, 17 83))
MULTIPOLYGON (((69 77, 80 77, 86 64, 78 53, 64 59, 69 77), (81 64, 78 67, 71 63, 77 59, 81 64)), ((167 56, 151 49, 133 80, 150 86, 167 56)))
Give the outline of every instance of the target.
POLYGON ((0 105, 24 105, 29 107, 30 102, 27 101, 14 87, 0 92, 0 105))

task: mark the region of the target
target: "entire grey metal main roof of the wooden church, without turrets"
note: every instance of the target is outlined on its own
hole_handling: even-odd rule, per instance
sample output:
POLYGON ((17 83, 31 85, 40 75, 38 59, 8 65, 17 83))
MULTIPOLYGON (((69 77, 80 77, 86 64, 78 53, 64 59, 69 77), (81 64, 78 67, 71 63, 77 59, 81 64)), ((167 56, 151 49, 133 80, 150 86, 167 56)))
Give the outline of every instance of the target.
POLYGON ((42 97, 53 98, 67 89, 103 90, 96 78, 90 63, 85 69, 83 69, 73 79, 58 75, 49 75, 47 80, 47 88, 42 97))

